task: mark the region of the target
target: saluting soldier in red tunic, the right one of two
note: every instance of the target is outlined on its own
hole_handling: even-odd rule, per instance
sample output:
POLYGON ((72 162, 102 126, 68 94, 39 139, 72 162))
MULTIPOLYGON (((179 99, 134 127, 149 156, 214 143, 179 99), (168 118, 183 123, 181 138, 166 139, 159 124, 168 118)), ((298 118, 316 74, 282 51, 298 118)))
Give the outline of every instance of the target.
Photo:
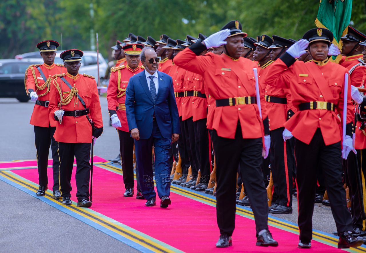
MULTIPOLYGON (((325 178, 332 214, 339 235, 338 248, 357 247, 362 239, 351 233, 352 220, 346 203, 342 182, 342 158, 346 159, 352 147, 354 113, 351 85, 348 82, 347 111, 343 111, 346 68, 328 59, 333 34, 327 29, 314 28, 303 39, 292 45, 271 66, 266 82, 272 87, 290 89, 295 113, 284 127, 296 138, 296 182, 298 186, 299 248, 310 248, 317 169, 325 178), (296 61, 306 49, 313 61, 296 61), (347 114, 346 136, 341 148, 340 122, 347 114)), ((348 78, 349 80, 349 78, 348 78)), ((288 139, 289 136, 284 136, 288 139)))

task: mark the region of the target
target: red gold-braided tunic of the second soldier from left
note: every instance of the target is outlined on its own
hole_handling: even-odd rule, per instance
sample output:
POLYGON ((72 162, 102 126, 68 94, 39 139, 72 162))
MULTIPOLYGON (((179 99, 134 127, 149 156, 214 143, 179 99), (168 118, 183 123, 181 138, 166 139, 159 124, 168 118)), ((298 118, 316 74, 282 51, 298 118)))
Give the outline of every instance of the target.
MULTIPOLYGON (((69 73, 62 74, 68 83, 71 84, 72 90, 60 79, 60 74, 56 75, 52 79, 50 89, 50 100, 48 111, 54 116, 56 110, 60 109, 60 96, 62 92, 62 98, 68 99, 70 102, 61 105, 61 109, 65 111, 83 110, 84 106, 79 101, 77 94, 85 102, 87 108, 89 108, 89 117, 93 120, 96 128, 103 127, 102 112, 100 108, 99 95, 97 89, 97 83, 94 77, 84 75, 72 76, 69 73), (61 83, 61 88, 60 88, 61 83)), ((53 137, 56 141, 66 143, 91 143, 92 130, 90 122, 87 120, 86 115, 79 117, 63 116, 62 124, 56 122, 56 132, 53 137)))

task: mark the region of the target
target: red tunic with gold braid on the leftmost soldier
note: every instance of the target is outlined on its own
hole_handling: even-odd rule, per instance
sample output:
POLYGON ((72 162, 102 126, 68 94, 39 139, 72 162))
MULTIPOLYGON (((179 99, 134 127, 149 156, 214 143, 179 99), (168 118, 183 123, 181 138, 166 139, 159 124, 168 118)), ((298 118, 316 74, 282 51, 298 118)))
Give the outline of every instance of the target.
MULTIPOLYGON (((39 101, 49 101, 49 89, 51 84, 51 77, 66 73, 66 68, 60 64, 34 64, 30 65, 25 72, 25 88, 29 95, 28 90, 32 89, 37 93, 39 101), (43 80, 41 73, 38 71, 37 66, 40 66, 42 72, 47 78, 46 82, 43 80)), ((30 117, 31 125, 37 127, 56 127, 56 122, 53 119, 53 115, 48 113, 48 108, 41 105, 34 105, 32 116, 30 117)))

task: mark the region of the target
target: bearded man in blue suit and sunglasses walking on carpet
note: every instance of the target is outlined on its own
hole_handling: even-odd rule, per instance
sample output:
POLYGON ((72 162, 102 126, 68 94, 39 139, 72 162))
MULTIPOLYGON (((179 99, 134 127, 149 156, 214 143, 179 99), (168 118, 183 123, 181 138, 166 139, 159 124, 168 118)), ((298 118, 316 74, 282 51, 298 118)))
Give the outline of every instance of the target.
POLYGON ((171 204, 169 149, 179 138, 179 116, 172 78, 158 69, 159 58, 152 48, 141 52, 145 71, 132 76, 126 90, 128 129, 135 140, 135 154, 142 194, 146 206, 156 202, 152 170, 155 154, 155 182, 160 207, 171 204))

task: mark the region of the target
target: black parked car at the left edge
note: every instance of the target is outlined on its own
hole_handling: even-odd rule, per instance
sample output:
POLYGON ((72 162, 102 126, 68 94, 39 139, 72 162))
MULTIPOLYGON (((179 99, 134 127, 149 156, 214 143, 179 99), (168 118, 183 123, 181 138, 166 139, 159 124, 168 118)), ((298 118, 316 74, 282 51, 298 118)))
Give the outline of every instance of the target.
POLYGON ((39 61, 16 59, 0 60, 0 97, 27 102, 29 97, 24 87, 25 71, 29 65, 38 63, 39 61))

